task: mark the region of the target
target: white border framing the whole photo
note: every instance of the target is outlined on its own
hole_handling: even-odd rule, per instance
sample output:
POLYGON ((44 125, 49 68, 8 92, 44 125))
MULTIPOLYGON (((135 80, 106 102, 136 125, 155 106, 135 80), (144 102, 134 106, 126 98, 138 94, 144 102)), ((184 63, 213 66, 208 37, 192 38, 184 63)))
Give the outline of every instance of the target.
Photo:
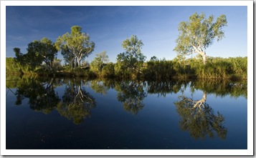
POLYGON ((1 155, 253 155, 253 1, 1 1, 1 155), (6 149, 6 6, 247 6, 247 149, 6 149))

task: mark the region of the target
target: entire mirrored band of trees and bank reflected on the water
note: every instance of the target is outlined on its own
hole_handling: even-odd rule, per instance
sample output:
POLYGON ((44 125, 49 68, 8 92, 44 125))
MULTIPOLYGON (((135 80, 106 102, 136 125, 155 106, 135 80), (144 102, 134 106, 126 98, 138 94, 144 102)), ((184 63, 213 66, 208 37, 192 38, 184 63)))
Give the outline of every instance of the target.
MULTIPOLYGON (((57 109, 62 116, 72 119, 75 124, 80 124, 86 117, 90 117, 91 109, 96 107, 95 98, 85 90, 85 82, 81 79, 37 79, 22 78, 9 79, 6 88, 15 88, 15 104, 22 104, 26 97, 29 99, 29 107, 35 111, 49 114, 57 109), (65 85, 64 94, 60 99, 56 87, 65 85)), ((123 108, 132 114, 138 114, 143 109, 143 99, 147 94, 158 94, 158 97, 166 97, 166 94, 181 93, 179 101, 175 102, 176 110, 181 116, 181 129, 187 130, 195 138, 213 137, 214 131, 223 139, 227 129, 223 127, 222 114, 214 114, 213 109, 206 103, 207 94, 215 94, 224 97, 247 98, 247 82, 227 81, 118 81, 118 80, 94 80, 90 82, 90 88, 100 94, 107 94, 108 89, 118 92, 117 99, 123 103, 123 108), (203 91, 202 99, 194 100, 184 96, 189 88, 193 94, 195 90, 203 91)))

